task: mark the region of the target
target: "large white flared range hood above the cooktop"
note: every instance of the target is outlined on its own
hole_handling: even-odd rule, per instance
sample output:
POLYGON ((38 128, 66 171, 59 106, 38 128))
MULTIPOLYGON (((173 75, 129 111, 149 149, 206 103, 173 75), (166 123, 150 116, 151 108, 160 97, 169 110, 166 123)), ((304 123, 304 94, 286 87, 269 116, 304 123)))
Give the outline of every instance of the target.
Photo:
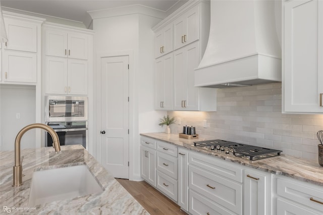
POLYGON ((281 45, 276 30, 281 11, 278 7, 276 21, 275 2, 280 1, 211 0, 209 38, 195 69, 195 87, 281 82, 281 45))

